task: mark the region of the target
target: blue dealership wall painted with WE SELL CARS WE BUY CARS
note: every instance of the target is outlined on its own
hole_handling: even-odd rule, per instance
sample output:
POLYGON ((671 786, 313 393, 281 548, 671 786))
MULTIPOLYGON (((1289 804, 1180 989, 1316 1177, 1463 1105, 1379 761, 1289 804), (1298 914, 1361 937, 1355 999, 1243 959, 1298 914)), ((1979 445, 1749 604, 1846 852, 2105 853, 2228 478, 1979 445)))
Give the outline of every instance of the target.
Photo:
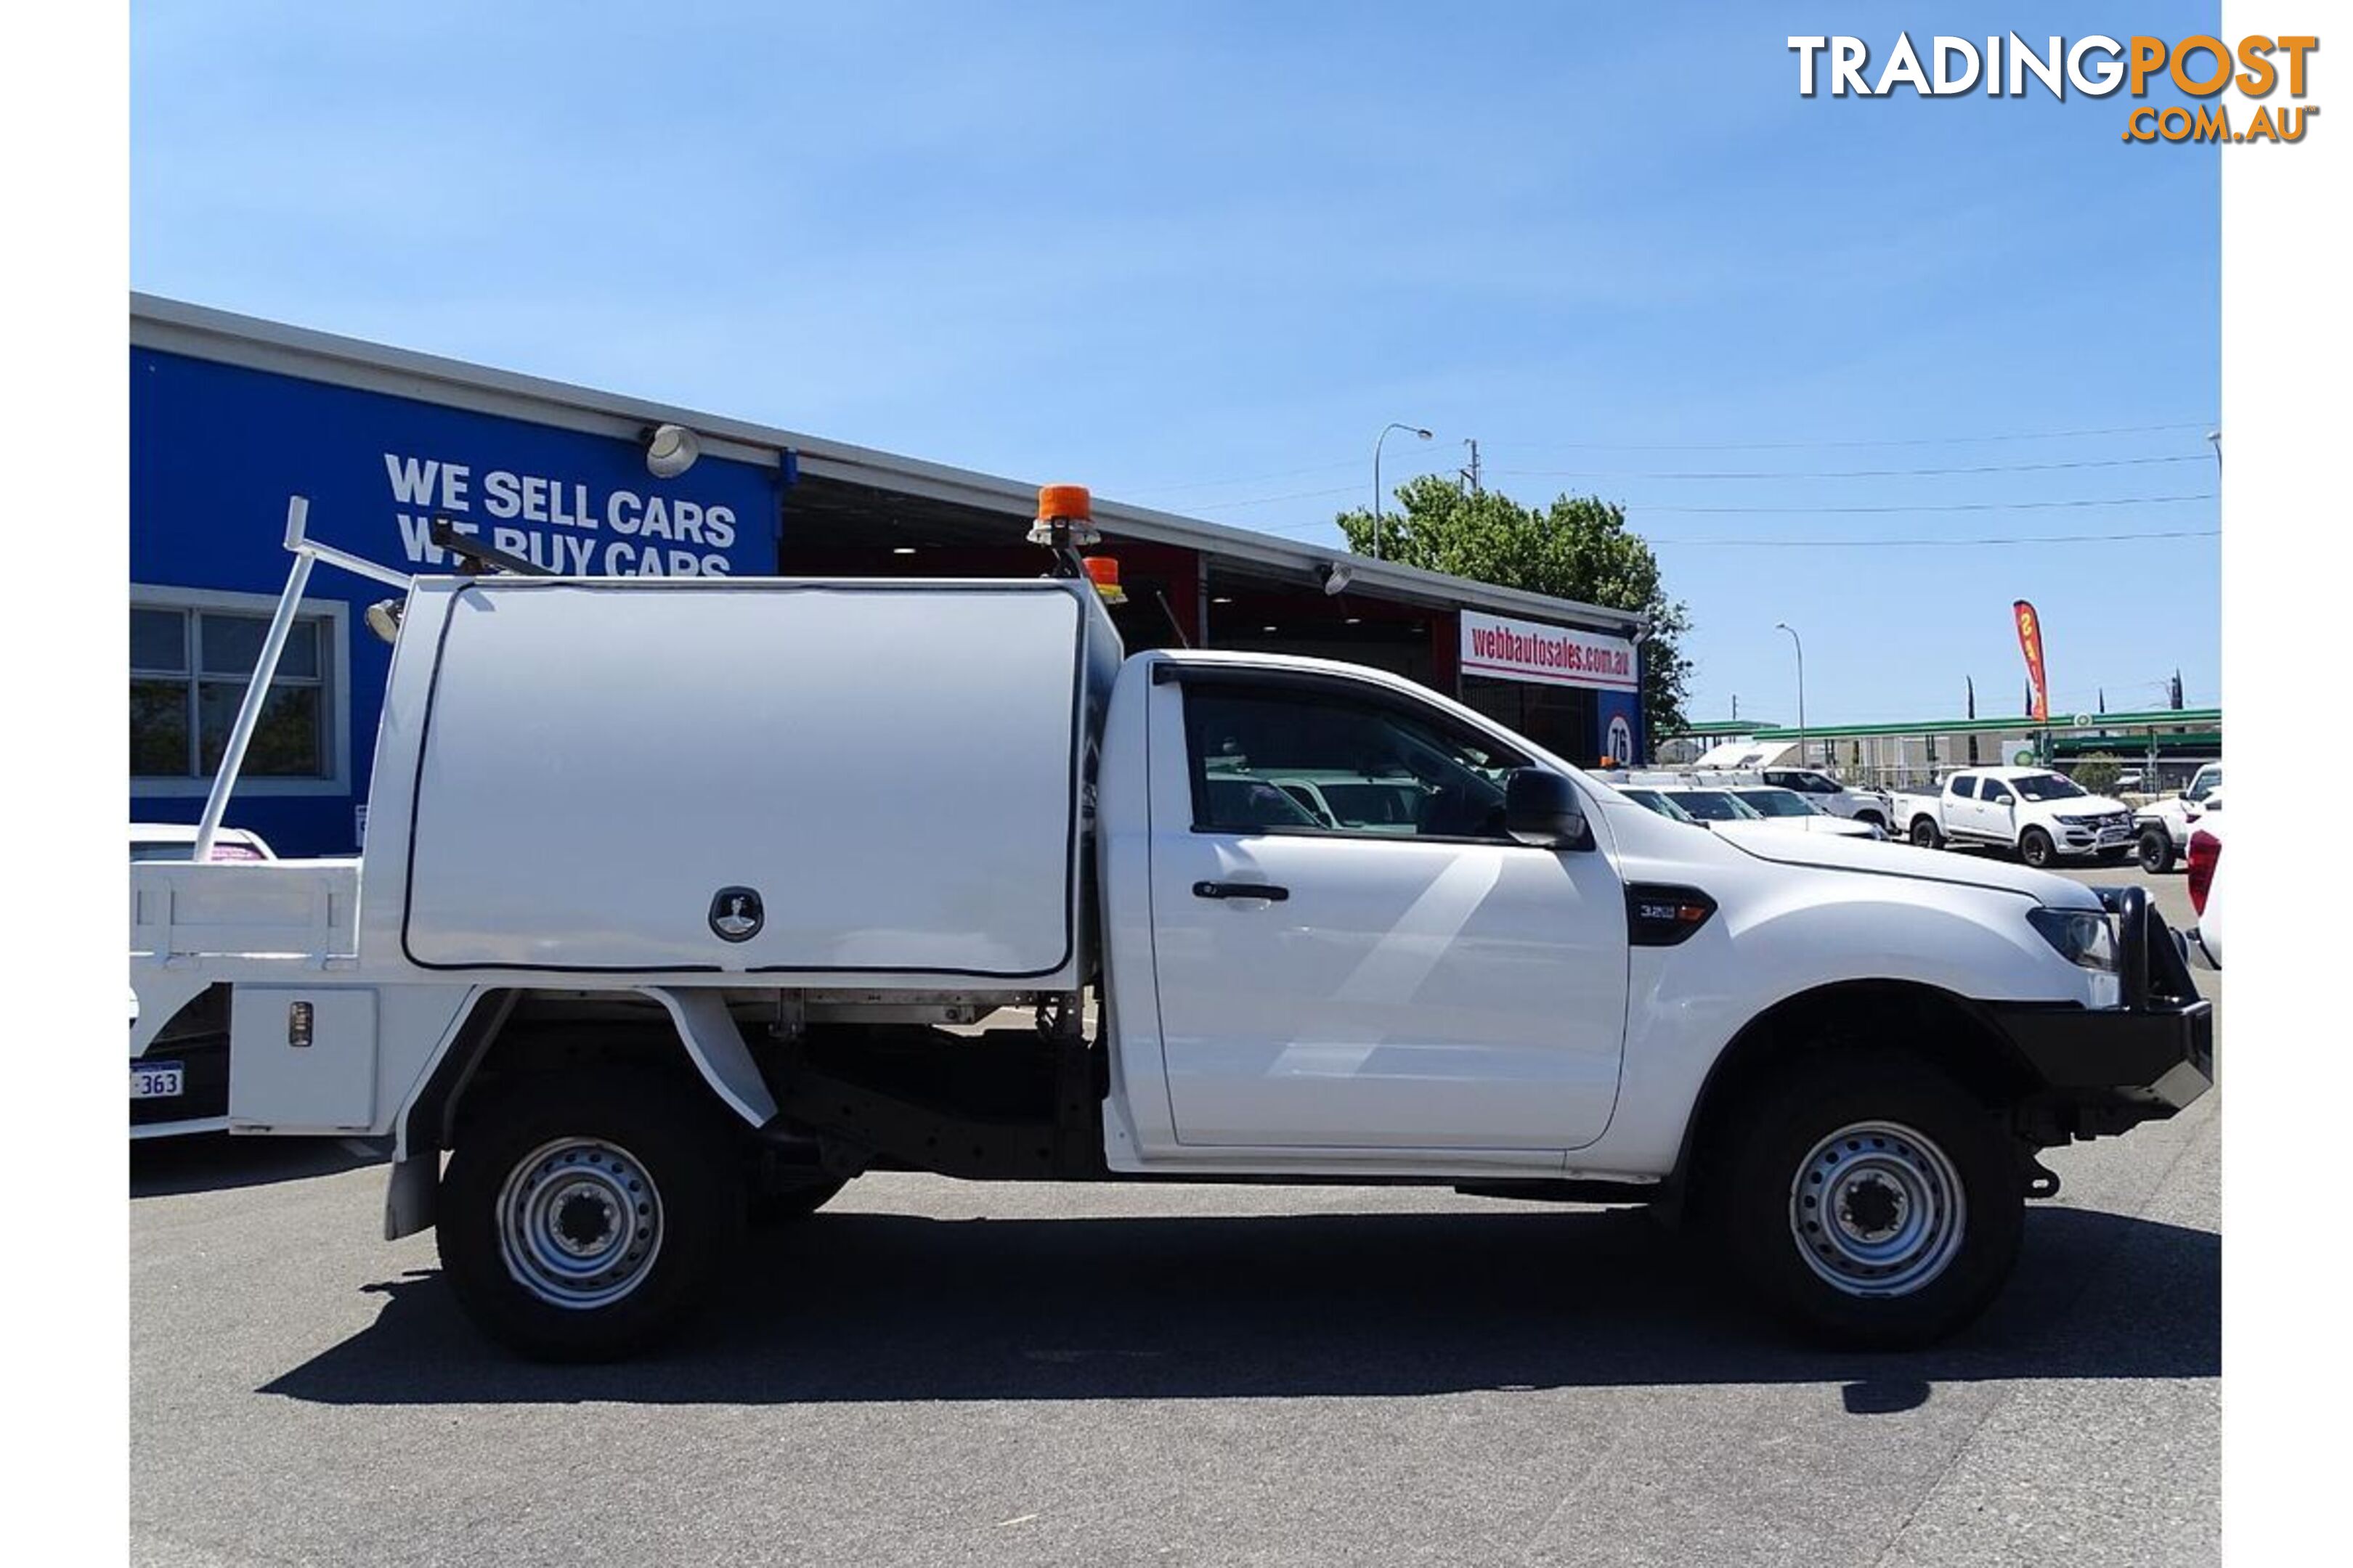
MULTIPOLYGON (((781 468, 706 456, 654 480, 635 440, 144 348, 129 371, 129 555, 144 588, 275 597, 294 494, 311 498, 313 538, 402 571, 449 569, 426 543, 433 517, 567 574, 776 571, 791 454, 781 468)), ((348 670, 348 788, 238 790, 228 820, 282 856, 355 849, 393 654, 362 611, 388 592, 334 567, 311 576, 311 599, 351 607, 332 654, 348 670)), ((129 797, 132 820, 151 823, 193 823, 205 804, 188 785, 141 780, 129 797)))

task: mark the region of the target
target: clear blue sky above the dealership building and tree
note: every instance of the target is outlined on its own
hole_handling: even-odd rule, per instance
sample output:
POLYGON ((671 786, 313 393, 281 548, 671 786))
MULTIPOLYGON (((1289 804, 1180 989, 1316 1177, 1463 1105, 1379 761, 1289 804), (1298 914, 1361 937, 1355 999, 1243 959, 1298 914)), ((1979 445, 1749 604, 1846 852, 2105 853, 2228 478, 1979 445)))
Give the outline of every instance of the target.
POLYGON ((2214 5, 1459 9, 134 5, 132 282, 1297 538, 1478 437, 1628 505, 1694 717, 1795 717, 1774 621, 1817 724, 2014 712, 2014 597, 2054 708, 2217 701, 2212 536, 1854 543, 2217 527, 2217 153, 1784 45, 2214 5))

